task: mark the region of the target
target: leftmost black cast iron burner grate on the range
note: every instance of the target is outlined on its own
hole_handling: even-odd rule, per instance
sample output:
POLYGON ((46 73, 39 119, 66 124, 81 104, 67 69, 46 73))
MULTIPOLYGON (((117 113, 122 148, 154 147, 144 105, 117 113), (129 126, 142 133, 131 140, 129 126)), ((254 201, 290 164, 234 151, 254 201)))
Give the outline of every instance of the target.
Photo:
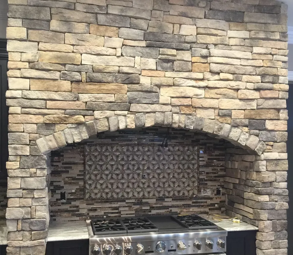
POLYGON ((93 234, 124 234, 126 228, 119 220, 91 220, 93 234))

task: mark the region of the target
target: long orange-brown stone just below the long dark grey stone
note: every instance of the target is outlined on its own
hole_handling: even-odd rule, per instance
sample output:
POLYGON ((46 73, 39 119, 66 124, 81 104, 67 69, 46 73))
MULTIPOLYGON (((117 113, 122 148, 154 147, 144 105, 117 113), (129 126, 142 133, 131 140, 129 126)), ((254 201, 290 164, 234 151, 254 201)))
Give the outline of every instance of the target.
POLYGON ((127 85, 116 83, 79 83, 74 82, 72 92, 93 94, 126 94, 127 85))

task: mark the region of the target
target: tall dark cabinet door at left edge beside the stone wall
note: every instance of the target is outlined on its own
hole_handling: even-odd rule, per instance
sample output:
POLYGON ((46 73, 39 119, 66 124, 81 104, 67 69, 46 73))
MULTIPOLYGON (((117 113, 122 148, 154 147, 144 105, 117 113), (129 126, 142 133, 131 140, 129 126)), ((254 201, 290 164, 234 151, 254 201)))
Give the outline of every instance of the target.
POLYGON ((7 91, 7 60, 6 41, 0 40, 0 177, 7 176, 5 166, 8 160, 8 107, 6 106, 5 98, 7 91))

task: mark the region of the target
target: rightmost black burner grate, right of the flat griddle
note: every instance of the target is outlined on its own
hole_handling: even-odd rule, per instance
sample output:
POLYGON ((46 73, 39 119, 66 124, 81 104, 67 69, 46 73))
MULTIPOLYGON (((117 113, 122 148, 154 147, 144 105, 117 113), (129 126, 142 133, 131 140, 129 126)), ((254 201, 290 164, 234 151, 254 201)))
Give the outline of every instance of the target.
POLYGON ((181 224, 188 226, 189 229, 209 229, 218 226, 196 214, 173 216, 181 224))

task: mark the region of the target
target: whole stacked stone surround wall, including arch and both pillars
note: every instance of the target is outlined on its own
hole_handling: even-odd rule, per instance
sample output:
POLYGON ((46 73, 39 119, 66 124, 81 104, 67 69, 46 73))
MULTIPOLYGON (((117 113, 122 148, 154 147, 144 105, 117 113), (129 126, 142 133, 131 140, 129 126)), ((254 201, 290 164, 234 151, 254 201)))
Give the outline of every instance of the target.
POLYGON ((241 146, 227 212, 258 225, 258 255, 287 254, 285 5, 14 0, 8 17, 8 254, 44 254, 51 150, 154 125, 241 146))

